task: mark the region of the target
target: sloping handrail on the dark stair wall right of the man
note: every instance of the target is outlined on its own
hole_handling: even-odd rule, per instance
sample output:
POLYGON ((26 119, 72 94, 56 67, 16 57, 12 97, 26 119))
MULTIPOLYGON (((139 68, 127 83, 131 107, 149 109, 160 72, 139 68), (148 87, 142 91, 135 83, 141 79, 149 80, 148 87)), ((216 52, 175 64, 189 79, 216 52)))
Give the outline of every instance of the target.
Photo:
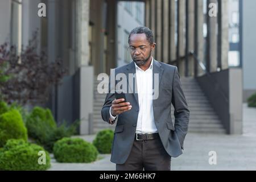
POLYGON ((196 53, 191 51, 188 53, 189 55, 193 56, 195 58, 195 60, 197 61, 197 64, 200 65, 200 67, 203 69, 203 71, 205 72, 205 75, 207 75, 209 78, 210 78, 210 81, 213 82, 213 84, 217 85, 217 87, 219 88, 220 90, 220 93, 222 95, 222 97, 224 98, 224 100, 226 102, 229 102, 228 98, 226 97, 225 95, 225 92, 224 90, 222 89, 221 85, 218 83, 218 81, 216 80, 216 78, 214 78, 212 75, 210 75, 210 73, 207 71, 204 63, 202 61, 199 60, 199 58, 197 57, 196 53))

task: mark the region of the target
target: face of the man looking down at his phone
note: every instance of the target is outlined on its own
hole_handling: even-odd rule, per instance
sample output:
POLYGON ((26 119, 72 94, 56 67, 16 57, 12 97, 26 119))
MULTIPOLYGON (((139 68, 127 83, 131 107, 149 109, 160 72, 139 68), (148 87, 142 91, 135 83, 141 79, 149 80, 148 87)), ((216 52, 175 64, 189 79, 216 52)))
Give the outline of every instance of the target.
POLYGON ((146 34, 131 34, 129 50, 131 58, 138 65, 144 65, 151 57, 151 52, 155 48, 155 43, 150 44, 146 34))

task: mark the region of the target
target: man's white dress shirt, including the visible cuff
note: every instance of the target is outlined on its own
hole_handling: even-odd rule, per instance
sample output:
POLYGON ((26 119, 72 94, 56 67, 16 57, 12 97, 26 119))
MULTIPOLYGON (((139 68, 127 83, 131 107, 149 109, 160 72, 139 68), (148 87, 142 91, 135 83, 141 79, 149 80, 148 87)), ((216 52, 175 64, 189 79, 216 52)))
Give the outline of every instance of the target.
MULTIPOLYGON (((136 133, 157 133, 155 126, 153 100, 152 100, 152 85, 153 85, 153 57, 151 59, 150 67, 143 71, 135 64, 136 81, 138 89, 139 113, 137 120, 136 133)), ((110 107, 111 110, 111 107, 110 107)), ((110 120, 113 121, 118 117, 113 117, 110 113, 110 120)))

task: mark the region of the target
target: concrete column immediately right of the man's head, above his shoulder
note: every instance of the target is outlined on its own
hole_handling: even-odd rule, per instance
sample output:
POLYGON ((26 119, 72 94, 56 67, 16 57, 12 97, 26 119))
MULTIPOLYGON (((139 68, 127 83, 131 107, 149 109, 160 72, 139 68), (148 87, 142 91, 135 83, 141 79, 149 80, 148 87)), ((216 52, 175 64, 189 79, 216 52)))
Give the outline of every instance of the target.
POLYGON ((156 1, 156 59, 162 60, 162 0, 156 1))

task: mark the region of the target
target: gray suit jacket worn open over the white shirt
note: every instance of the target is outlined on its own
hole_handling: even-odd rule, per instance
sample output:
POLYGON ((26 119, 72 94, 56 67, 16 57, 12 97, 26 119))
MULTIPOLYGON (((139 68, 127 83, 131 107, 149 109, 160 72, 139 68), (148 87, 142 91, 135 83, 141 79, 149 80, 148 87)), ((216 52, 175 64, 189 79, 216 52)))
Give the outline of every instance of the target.
MULTIPOLYGON (((128 78, 129 73, 135 73, 134 62, 116 68, 115 75, 117 73, 125 73, 128 78)), ((155 125, 165 150, 170 156, 176 158, 182 154, 183 142, 188 131, 189 110, 187 102, 181 89, 177 67, 154 60, 153 77, 154 73, 159 73, 159 97, 153 100, 155 125), (175 108, 174 124, 171 119, 171 104, 175 108)), ((117 84, 117 81, 115 81, 115 84, 117 84)), ((129 86, 134 88, 134 85, 129 86)), ((110 88, 109 85, 109 93, 101 110, 102 119, 108 123, 110 118, 109 109, 115 98, 114 93, 110 93, 111 89, 113 88, 110 88)), ((119 114, 117 121, 115 121, 117 125, 114 130, 111 162, 116 164, 123 164, 127 160, 133 146, 137 127, 138 93, 127 93, 126 100, 133 107, 131 110, 119 114)))

